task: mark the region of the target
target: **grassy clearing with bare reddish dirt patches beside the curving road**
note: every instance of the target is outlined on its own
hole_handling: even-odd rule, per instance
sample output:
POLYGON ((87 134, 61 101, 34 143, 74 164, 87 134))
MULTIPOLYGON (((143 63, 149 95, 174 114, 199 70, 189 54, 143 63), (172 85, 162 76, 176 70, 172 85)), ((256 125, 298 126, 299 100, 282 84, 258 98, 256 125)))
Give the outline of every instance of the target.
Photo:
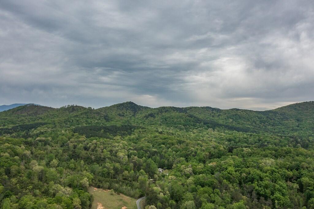
POLYGON ((94 197, 92 209, 137 209, 134 198, 94 187, 89 187, 88 192, 94 197))

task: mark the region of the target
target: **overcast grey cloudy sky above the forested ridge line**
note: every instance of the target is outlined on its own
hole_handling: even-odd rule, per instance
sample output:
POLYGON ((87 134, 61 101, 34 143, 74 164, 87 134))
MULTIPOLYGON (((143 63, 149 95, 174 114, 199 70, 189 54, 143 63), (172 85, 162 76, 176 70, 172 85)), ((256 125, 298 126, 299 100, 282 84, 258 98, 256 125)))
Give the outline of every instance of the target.
POLYGON ((314 100, 314 1, 0 1, 0 105, 314 100))

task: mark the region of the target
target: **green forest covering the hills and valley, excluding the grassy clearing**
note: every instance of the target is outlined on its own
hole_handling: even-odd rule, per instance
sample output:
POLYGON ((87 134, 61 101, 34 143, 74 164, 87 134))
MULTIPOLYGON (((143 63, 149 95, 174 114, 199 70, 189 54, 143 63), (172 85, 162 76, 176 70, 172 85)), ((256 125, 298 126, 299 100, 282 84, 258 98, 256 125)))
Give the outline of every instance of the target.
POLYGON ((158 209, 314 208, 313 122, 314 102, 19 106, 0 113, 0 206, 89 208, 92 185, 158 209))

